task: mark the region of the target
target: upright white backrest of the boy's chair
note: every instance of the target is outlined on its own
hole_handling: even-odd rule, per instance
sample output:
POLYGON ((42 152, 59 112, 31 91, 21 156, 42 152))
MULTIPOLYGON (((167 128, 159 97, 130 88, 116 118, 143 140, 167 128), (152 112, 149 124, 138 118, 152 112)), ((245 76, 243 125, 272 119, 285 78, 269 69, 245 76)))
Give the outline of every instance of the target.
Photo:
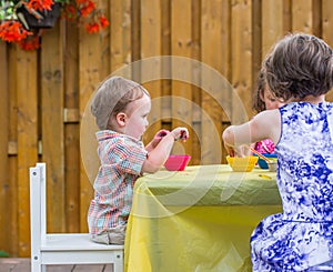
MULTIPOLYGON (((47 165, 37 163, 30 168, 30 232, 31 251, 39 249, 47 233, 47 165)), ((34 254, 36 252, 31 252, 34 254)))

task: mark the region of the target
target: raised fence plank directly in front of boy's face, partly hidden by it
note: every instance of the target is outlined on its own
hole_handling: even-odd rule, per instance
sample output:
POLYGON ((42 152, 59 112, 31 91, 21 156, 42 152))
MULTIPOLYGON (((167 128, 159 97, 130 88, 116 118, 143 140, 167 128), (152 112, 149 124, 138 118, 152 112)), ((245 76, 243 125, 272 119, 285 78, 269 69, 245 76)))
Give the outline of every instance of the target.
POLYGON ((141 82, 152 99, 149 115, 150 127, 144 135, 144 142, 162 128, 161 122, 161 2, 155 0, 141 1, 141 59, 157 57, 141 63, 141 82), (153 38, 152 38, 153 37, 153 38))

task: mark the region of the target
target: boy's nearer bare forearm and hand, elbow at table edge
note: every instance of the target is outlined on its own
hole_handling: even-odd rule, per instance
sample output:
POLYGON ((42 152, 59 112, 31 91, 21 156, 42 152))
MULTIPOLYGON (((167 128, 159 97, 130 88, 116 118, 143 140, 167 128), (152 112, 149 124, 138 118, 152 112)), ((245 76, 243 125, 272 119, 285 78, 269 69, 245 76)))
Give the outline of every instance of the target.
POLYGON ((189 138, 189 131, 186 128, 176 128, 167 133, 159 143, 147 155, 147 160, 142 165, 142 172, 154 173, 167 161, 170 151, 175 140, 186 140, 189 138))

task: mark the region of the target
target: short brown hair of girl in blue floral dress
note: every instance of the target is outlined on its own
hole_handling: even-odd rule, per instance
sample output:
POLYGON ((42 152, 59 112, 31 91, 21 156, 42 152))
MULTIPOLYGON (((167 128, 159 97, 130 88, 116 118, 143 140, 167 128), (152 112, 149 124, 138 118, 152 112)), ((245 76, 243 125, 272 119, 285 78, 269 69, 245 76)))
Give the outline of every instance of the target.
POLYGON ((270 90, 284 101, 319 97, 333 87, 332 48, 312 34, 286 36, 263 66, 270 90))

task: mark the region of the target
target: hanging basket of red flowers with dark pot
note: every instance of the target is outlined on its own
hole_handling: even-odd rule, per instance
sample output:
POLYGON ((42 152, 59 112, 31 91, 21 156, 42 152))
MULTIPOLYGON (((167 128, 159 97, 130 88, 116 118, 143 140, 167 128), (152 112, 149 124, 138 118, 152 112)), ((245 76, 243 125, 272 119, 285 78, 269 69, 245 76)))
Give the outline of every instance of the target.
POLYGON ((24 50, 40 48, 43 28, 52 28, 59 16, 98 33, 109 20, 94 0, 0 0, 0 39, 24 50))

